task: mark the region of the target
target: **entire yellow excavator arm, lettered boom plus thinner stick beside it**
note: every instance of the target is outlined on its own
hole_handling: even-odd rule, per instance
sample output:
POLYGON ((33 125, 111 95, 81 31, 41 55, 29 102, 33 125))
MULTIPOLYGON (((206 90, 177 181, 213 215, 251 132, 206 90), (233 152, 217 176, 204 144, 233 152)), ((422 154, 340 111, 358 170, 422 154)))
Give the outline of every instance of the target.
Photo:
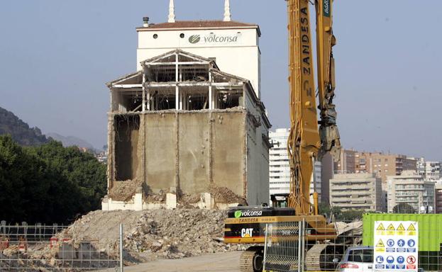
POLYGON ((316 42, 320 118, 316 110, 314 65, 311 47, 309 0, 287 0, 289 30, 289 87, 291 130, 287 143, 291 171, 289 207, 297 215, 318 214, 318 194, 310 201, 314 161, 327 152, 337 160, 340 154, 334 97, 336 44, 331 29, 332 0, 316 0, 316 42), (318 123, 320 128, 318 129, 318 123))

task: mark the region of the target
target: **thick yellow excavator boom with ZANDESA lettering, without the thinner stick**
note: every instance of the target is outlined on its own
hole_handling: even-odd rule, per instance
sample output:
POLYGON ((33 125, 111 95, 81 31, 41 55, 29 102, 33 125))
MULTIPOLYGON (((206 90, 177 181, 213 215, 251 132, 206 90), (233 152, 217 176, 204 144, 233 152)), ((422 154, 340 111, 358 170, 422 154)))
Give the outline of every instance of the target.
POLYGON ((291 129, 287 143, 291 171, 289 207, 311 214, 310 181, 321 148, 316 114, 308 0, 287 1, 291 129))

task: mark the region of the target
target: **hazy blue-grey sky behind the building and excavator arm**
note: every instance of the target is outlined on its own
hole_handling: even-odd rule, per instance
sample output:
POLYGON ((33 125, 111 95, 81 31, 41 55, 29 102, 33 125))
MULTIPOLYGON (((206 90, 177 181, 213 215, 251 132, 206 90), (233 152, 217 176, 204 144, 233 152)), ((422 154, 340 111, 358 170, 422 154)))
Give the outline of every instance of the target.
MULTIPOLYGON (((263 101, 287 127, 283 0, 231 0, 233 20, 263 36, 263 101)), ((106 143, 104 83, 136 69, 143 16, 167 20, 168 0, 4 1, 0 106, 43 132, 106 143)), ((223 17, 223 0, 175 0, 177 20, 223 17)), ((336 0, 336 105, 343 145, 442 159, 442 1, 336 0)))

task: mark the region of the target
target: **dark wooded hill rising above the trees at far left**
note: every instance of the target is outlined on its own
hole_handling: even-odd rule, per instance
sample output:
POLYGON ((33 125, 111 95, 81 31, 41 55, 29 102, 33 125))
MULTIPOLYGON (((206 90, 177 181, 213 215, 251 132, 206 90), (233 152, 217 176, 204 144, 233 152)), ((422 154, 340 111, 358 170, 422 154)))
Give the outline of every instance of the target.
POLYGON ((9 134, 18 145, 43 145, 49 142, 40 128, 29 128, 20 118, 0 107, 0 135, 9 134))

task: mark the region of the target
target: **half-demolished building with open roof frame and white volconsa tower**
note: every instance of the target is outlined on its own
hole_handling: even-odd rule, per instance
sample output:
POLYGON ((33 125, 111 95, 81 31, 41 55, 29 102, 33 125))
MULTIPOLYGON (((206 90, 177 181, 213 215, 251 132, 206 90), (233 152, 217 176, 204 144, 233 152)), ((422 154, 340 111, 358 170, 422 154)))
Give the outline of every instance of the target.
POLYGON ((103 210, 266 203, 270 122, 257 90, 258 26, 145 20, 137 30, 138 71, 107 84, 103 210))

